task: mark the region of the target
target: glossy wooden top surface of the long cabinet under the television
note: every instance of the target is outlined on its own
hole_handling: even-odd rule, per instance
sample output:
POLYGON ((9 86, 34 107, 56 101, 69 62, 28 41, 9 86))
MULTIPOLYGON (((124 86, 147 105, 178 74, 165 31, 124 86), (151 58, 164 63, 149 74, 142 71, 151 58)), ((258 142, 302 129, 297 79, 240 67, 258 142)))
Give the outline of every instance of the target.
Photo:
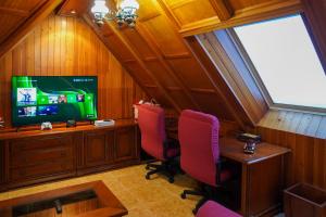
POLYGON ((88 131, 88 130, 96 130, 96 129, 110 129, 110 128, 115 129, 115 128, 133 126, 133 125, 137 125, 137 123, 134 119, 117 119, 115 120, 114 126, 109 126, 109 127, 96 127, 93 125, 83 125, 83 126, 67 128, 65 127, 65 125, 60 125, 59 127, 54 126, 52 130, 32 129, 32 130, 22 130, 22 131, 9 131, 9 132, 7 131, 7 132, 0 132, 0 141, 8 140, 8 139, 34 137, 34 136, 78 132, 78 131, 88 131))

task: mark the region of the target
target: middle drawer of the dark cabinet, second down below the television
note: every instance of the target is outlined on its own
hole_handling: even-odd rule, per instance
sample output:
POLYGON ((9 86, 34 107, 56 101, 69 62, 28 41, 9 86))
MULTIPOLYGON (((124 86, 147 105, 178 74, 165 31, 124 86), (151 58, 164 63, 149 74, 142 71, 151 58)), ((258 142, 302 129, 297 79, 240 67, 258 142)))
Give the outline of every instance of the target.
POLYGON ((33 150, 11 154, 10 167, 26 167, 32 165, 45 164, 50 161, 65 161, 74 156, 74 149, 68 146, 59 146, 46 150, 33 150))

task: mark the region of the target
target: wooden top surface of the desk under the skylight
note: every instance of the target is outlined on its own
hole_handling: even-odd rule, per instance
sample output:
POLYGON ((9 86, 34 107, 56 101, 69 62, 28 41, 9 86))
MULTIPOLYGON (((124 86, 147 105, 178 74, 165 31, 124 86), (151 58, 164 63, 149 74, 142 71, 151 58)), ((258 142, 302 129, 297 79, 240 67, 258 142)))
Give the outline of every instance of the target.
POLYGON ((254 164, 261 161, 286 154, 291 150, 266 142, 256 145, 254 154, 243 153, 244 143, 235 138, 220 139, 220 154, 242 164, 254 164))

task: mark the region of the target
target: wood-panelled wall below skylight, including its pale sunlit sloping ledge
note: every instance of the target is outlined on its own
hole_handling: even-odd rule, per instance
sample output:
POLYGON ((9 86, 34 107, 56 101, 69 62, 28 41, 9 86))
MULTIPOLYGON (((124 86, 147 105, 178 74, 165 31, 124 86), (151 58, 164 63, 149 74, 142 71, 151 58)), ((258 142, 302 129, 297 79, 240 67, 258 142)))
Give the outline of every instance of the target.
POLYGON ((264 141, 287 146, 287 186, 308 182, 326 189, 326 116, 271 110, 255 129, 264 141))

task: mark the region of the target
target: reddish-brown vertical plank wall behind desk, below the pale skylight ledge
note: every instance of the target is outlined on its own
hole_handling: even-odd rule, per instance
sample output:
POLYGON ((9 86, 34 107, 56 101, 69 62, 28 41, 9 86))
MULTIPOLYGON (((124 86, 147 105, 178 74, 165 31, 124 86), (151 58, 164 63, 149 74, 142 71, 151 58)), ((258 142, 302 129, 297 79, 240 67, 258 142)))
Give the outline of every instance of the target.
POLYGON ((291 149, 286 157, 286 186, 308 182, 326 188, 326 141, 325 139, 258 127, 263 141, 291 149))

